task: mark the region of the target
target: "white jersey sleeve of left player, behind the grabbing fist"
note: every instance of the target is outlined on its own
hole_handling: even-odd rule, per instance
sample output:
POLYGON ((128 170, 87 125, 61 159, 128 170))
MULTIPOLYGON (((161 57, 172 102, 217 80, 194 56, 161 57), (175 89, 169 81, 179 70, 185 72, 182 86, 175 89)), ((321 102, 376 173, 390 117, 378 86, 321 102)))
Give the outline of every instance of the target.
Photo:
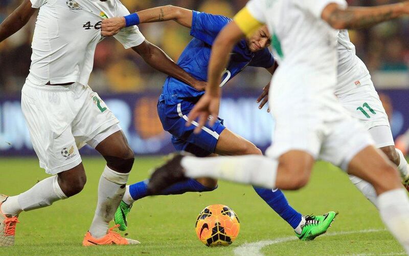
MULTIPOLYGON (((35 1, 35 0, 32 0, 35 1)), ((121 3, 118 6, 117 16, 129 15, 128 9, 121 3)), ((129 49, 135 46, 139 46, 145 41, 145 36, 139 31, 137 26, 132 26, 122 29, 118 34, 116 34, 115 39, 117 39, 125 47, 129 49)))

